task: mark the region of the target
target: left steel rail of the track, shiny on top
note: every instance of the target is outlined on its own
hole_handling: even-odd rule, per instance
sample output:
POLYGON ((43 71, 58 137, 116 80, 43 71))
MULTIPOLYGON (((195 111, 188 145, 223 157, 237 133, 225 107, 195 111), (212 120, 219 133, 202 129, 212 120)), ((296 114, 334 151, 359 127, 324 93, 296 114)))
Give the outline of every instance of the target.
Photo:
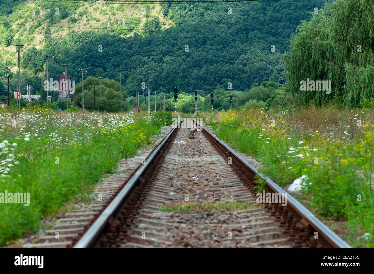
POLYGON ((163 139, 159 146, 153 151, 153 153, 147 158, 144 164, 135 172, 135 174, 129 179, 127 184, 122 188, 118 195, 110 202, 110 204, 102 211, 98 218, 93 222, 93 224, 85 231, 82 237, 74 244, 73 248, 88 248, 95 241, 96 237, 104 230, 105 225, 115 214, 116 210, 120 207, 126 197, 131 193, 135 184, 140 179, 141 175, 147 171, 148 167, 151 166, 152 161, 159 153, 160 149, 168 142, 170 136, 172 136, 174 127, 168 135, 163 139))

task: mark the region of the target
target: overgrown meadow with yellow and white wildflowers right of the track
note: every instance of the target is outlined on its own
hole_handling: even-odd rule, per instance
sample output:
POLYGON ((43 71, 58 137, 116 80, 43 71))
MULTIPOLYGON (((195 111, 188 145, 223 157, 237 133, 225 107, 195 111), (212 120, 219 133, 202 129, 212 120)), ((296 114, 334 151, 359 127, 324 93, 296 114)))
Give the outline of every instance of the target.
POLYGON ((372 110, 310 107, 228 111, 209 120, 219 138, 261 161, 279 185, 306 175, 298 194, 306 206, 343 222, 336 231, 352 246, 374 247, 373 117, 372 110))

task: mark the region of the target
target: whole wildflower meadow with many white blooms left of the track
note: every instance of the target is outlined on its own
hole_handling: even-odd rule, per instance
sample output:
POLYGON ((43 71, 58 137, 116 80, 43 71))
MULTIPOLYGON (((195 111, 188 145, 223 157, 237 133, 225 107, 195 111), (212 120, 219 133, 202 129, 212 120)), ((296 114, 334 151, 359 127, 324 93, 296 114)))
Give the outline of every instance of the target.
POLYGON ((0 192, 30 193, 30 205, 0 203, 0 245, 34 233, 67 201, 80 201, 122 158, 147 145, 171 113, 127 114, 0 110, 0 192))

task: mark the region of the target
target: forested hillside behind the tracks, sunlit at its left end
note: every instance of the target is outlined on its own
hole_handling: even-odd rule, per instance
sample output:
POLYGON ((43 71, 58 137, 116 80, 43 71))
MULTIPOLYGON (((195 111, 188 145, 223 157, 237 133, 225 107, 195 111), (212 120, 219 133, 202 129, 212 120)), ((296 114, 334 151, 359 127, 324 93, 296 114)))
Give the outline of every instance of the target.
MULTIPOLYGON (((21 3, 17 6, 21 12, 12 4, 10 9, 6 4, 1 5, 1 33, 8 38, 17 33, 12 37, 17 43, 30 43, 28 50, 22 50, 21 78, 24 83, 42 83, 45 79, 43 55, 49 54, 55 57, 49 62, 51 77, 61 74, 61 64, 68 63, 68 74, 76 80, 80 79, 80 68, 85 68, 90 76, 115 80, 119 80, 122 72, 123 90, 131 89, 131 93, 135 83, 145 82, 153 90, 163 87, 168 92, 178 86, 187 93, 198 89, 205 94, 217 86, 227 87, 229 82, 233 90, 242 91, 263 81, 285 83, 280 59, 288 49, 289 38, 301 20, 310 18, 315 7, 322 8, 324 5, 322 0, 168 3, 161 4, 158 15, 148 14, 142 25, 108 27, 104 24, 102 28, 105 29, 90 29, 91 22, 87 23, 86 17, 92 16, 91 13, 76 14, 77 10, 82 10, 80 5, 83 4, 64 3, 59 9, 61 18, 54 19, 55 3, 35 2, 34 5, 40 6, 40 14, 49 16, 49 21, 39 26, 28 26, 30 35, 20 36, 19 31, 22 32, 24 27, 12 25, 19 24, 15 22, 20 20, 13 16, 22 14, 26 18, 24 14, 31 13, 22 12, 22 1, 18 2, 21 3), (65 8, 68 12, 62 15, 65 8), (56 27, 53 20, 59 21, 60 26, 74 27, 77 22, 73 22, 73 18, 80 17, 85 18, 82 22, 86 29, 70 28, 62 36, 53 35, 56 27), (163 30, 162 25, 166 21, 172 22, 172 25, 163 30), (50 27, 45 27, 47 25, 50 27), (40 31, 32 32, 30 28, 40 31), (133 35, 123 37, 129 34, 126 29, 133 31, 133 35), (43 41, 43 47, 38 46, 39 41, 43 41), (271 50, 272 45, 275 51, 271 50), (99 50, 101 46, 102 51, 99 50)), ((124 4, 110 3, 97 3, 92 9, 102 9, 102 6, 108 11, 114 10, 119 16, 128 10, 121 10, 120 6, 124 4), (114 5, 117 5, 116 8, 113 8, 114 5)), ((147 4, 132 6, 151 10, 151 5, 147 4)), ((26 7, 28 4, 24 5, 26 7)), ((101 20, 100 15, 96 17, 101 20)), ((23 21, 28 22, 28 19, 23 21)), ((93 28, 95 20, 91 21, 93 28)), ((1 40, 3 48, 6 43, 1 40)), ((7 67, 14 67, 15 62, 15 55, 1 60, 1 78, 7 76, 7 67)))

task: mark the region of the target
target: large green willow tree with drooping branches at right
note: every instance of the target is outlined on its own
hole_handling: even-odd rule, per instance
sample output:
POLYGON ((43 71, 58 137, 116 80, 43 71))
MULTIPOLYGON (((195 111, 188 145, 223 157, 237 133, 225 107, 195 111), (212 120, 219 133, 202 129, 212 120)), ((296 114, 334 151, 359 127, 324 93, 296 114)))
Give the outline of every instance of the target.
POLYGON ((337 0, 298 26, 282 61, 297 102, 322 105, 339 94, 358 106, 374 96, 374 0, 337 0), (300 90, 301 81, 331 80, 331 93, 300 90))

